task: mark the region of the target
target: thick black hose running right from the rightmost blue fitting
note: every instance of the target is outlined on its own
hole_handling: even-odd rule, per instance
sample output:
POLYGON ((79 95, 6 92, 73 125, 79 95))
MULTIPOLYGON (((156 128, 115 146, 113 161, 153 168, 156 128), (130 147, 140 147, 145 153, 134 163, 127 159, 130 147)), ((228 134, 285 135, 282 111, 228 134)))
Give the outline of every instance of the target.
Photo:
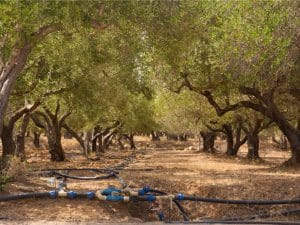
POLYGON ((300 204, 300 199, 290 200, 231 200, 218 198, 204 198, 197 196, 184 195, 182 200, 195 202, 211 202, 220 204, 237 204, 237 205, 283 205, 283 204, 300 204))

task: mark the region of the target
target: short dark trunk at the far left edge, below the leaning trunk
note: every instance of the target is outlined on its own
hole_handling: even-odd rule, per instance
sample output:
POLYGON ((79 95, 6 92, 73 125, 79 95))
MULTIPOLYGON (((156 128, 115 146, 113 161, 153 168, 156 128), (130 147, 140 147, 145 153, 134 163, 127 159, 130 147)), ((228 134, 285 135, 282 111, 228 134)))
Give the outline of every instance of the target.
POLYGON ((2 156, 15 155, 16 143, 13 138, 13 126, 3 126, 1 141, 2 156))

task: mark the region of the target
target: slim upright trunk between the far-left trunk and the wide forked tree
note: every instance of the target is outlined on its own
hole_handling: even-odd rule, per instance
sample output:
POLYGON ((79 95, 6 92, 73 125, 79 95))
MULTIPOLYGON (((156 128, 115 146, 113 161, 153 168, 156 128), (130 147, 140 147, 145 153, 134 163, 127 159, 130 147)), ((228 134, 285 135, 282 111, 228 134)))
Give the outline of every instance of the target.
POLYGON ((25 155, 25 137, 26 130, 29 124, 30 115, 25 114, 23 116, 20 132, 16 136, 16 155, 21 158, 22 161, 26 159, 25 155))

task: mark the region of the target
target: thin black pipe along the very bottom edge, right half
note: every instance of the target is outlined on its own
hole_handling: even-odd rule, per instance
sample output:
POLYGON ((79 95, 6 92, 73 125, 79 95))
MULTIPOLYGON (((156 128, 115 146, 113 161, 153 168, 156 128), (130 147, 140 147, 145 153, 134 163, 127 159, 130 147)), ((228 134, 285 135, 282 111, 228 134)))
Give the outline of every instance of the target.
POLYGON ((180 222, 180 221, 166 221, 169 224, 279 224, 279 225, 300 225, 300 221, 249 221, 249 220, 239 220, 239 221, 224 221, 224 220, 199 220, 190 222, 180 222))

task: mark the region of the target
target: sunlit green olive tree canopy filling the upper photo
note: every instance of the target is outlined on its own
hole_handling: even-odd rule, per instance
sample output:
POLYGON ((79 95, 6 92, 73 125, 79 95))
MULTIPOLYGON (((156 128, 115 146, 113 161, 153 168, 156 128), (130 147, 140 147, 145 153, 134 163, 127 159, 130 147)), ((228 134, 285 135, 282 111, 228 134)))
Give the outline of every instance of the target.
POLYGON ((188 74, 222 107, 244 99, 241 86, 277 88, 275 102, 296 121, 299 104, 290 103, 298 100, 284 91, 300 86, 297 7, 296 1, 1 1, 4 63, 16 47, 36 44, 10 108, 63 89, 43 104, 60 101, 78 130, 118 120, 124 132, 184 132, 234 121, 234 113, 218 118, 184 88, 179 95, 165 90, 178 89, 188 74), (37 43, 32 34, 54 23, 60 30, 37 43))

